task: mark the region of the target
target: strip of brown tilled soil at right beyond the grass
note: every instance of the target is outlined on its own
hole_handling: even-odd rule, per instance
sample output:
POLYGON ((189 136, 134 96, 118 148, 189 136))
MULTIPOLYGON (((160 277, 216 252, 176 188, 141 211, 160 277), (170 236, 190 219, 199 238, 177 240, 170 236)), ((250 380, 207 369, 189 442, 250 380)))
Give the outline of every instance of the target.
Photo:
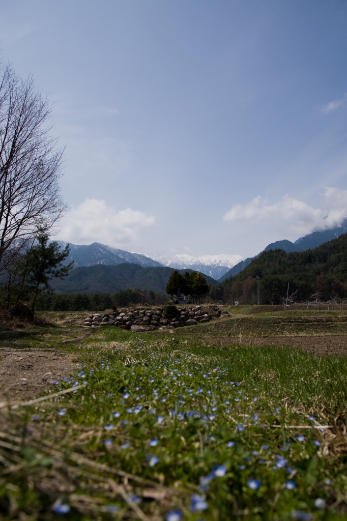
POLYGON ((228 337, 209 338, 211 345, 275 345, 277 347, 301 348, 318 355, 347 355, 347 335, 326 335, 321 337, 228 337))

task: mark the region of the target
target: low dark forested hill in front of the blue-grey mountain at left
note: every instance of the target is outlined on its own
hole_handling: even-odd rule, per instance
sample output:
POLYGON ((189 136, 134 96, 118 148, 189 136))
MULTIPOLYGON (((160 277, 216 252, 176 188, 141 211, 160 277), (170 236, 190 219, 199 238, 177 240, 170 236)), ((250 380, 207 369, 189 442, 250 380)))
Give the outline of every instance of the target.
MULTIPOLYGON (((53 279, 56 293, 116 293, 118 290, 140 288, 155 293, 166 293, 165 287, 173 268, 156 266, 143 268, 139 264, 123 263, 117 266, 83 266, 70 271, 63 280, 53 279)), ((209 284, 217 281, 206 276, 209 284)))

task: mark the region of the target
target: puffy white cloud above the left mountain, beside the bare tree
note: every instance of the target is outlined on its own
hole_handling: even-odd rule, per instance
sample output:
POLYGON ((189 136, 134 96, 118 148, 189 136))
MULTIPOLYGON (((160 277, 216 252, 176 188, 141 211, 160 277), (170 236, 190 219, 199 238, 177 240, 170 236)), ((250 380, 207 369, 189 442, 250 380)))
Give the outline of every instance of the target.
POLYGON ((139 210, 117 212, 103 200, 86 199, 62 219, 59 238, 75 244, 101 242, 116 247, 137 240, 154 224, 155 217, 139 210))

